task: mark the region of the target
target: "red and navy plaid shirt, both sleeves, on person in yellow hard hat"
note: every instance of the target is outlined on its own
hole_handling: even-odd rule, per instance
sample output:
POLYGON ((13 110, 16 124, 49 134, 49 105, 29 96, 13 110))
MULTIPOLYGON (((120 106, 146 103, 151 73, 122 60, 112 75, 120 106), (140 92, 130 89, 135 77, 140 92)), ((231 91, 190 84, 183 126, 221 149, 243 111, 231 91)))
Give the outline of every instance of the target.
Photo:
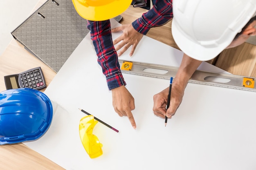
MULTIPOLYGON (((151 27, 161 26, 172 17, 172 0, 157 0, 152 9, 132 22, 132 26, 139 33, 146 35, 151 27)), ((88 29, 109 90, 126 85, 112 42, 110 20, 88 21, 88 29)))

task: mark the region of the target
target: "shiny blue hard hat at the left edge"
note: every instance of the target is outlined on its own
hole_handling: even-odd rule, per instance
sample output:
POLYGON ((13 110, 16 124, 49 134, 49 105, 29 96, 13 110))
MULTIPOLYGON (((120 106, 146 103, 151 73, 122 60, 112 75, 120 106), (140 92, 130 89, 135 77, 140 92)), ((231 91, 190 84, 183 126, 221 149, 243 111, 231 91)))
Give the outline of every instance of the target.
POLYGON ((52 123, 50 99, 31 88, 9 89, 0 93, 0 145, 33 141, 52 123))

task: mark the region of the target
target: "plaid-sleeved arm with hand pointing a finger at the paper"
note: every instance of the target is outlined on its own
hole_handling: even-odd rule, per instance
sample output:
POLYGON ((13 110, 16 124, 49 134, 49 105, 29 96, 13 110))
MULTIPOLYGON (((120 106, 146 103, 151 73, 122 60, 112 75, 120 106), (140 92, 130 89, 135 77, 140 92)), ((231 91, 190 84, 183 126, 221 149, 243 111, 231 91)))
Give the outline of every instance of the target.
POLYGON ((112 42, 110 20, 88 21, 91 40, 98 56, 98 63, 106 76, 109 90, 112 91, 112 101, 119 116, 128 116, 130 123, 136 128, 131 110, 135 104, 132 95, 125 88, 126 82, 120 70, 117 52, 112 42), (120 102, 121 101, 121 102, 120 102))

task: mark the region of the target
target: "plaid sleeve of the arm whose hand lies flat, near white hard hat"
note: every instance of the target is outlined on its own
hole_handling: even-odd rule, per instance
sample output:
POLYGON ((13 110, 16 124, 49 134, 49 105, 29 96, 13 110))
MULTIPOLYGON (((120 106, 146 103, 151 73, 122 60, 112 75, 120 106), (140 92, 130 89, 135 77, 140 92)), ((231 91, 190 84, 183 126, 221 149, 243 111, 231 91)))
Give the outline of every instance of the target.
POLYGON ((161 26, 172 18, 172 0, 157 0, 152 9, 132 22, 132 26, 139 33, 146 35, 151 27, 161 26))

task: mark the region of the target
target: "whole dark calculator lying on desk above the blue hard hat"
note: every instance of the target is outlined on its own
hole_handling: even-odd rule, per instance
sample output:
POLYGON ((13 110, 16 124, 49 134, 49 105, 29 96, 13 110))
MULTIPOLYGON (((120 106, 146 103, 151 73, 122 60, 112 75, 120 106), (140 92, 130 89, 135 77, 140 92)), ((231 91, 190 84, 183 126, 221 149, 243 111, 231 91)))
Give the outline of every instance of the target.
POLYGON ((42 90, 46 88, 45 77, 41 67, 32 68, 20 74, 4 76, 4 82, 7 90, 13 88, 42 90))

